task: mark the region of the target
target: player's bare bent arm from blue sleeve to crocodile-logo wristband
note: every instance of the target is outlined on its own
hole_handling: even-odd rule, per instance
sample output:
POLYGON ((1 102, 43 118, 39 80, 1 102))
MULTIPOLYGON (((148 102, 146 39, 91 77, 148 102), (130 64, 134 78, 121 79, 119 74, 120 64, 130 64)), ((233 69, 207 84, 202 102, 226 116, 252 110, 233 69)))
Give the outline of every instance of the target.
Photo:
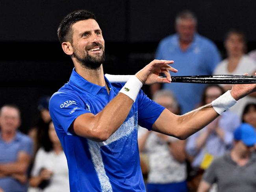
POLYGON ((119 93, 100 113, 85 113, 71 125, 76 135, 102 142, 107 140, 122 125, 134 101, 119 93))

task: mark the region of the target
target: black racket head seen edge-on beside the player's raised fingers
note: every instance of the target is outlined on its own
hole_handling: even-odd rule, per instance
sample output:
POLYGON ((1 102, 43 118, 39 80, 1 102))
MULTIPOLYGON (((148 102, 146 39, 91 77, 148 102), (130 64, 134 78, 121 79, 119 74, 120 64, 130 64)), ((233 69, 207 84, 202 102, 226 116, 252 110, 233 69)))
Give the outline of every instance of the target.
POLYGON ((206 84, 253 84, 256 76, 252 75, 198 75, 173 76, 172 83, 206 83, 206 84))

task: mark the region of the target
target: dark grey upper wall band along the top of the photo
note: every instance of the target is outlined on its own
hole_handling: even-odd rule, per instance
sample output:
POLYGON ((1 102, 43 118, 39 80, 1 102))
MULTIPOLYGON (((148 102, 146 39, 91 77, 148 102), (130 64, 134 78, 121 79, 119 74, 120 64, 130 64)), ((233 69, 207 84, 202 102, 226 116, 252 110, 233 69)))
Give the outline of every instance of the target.
POLYGON ((174 17, 183 9, 198 16, 198 31, 222 41, 231 27, 256 41, 254 0, 12 0, 0 2, 0 41, 57 41, 61 19, 76 9, 89 9, 104 29, 106 41, 159 41, 174 32, 174 17))

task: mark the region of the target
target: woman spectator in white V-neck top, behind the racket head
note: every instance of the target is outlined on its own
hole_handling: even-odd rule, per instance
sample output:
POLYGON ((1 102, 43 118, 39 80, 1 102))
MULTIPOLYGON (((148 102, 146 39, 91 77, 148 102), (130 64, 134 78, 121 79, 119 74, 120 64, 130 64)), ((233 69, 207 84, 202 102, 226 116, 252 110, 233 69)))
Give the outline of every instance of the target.
MULTIPOLYGON (((248 55, 245 55, 246 42, 245 36, 241 31, 230 30, 226 35, 224 46, 228 57, 219 63, 213 74, 242 75, 244 73, 249 73, 249 75, 254 75, 254 72, 256 72, 256 63, 248 55)), ((232 85, 221 86, 224 87, 224 90, 230 90, 232 88, 232 85)), ((246 103, 256 103, 255 97, 256 94, 246 96, 242 100, 239 100, 236 105, 231 107, 230 111, 237 113, 241 117, 242 110, 246 103)))

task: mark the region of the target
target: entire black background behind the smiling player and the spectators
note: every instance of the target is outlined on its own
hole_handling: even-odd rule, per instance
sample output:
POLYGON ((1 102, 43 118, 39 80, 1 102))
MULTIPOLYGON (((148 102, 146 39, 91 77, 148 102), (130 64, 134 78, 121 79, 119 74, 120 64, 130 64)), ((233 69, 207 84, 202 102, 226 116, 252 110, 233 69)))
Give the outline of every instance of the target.
POLYGON ((38 116, 39 97, 69 80, 73 65, 56 30, 74 10, 89 9, 97 17, 106 45, 104 72, 134 74, 154 58, 158 42, 175 32, 175 15, 184 9, 197 15, 198 33, 213 40, 223 57, 230 28, 243 30, 248 50, 255 49, 255 8, 255 0, 0 0, 0 106, 17 104, 26 131, 38 116))

